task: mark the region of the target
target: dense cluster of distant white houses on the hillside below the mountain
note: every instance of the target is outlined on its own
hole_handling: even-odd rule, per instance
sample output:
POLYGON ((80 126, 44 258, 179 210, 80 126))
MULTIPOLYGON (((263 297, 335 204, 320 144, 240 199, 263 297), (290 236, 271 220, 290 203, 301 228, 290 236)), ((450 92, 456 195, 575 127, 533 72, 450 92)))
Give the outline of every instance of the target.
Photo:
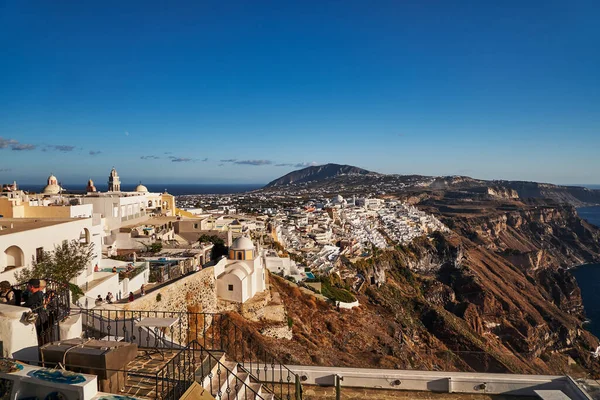
POLYGON ((407 203, 340 195, 284 209, 272 217, 272 223, 277 241, 302 255, 307 266, 319 273, 335 270, 340 255, 368 256, 372 247, 407 244, 447 230, 433 215, 407 203))

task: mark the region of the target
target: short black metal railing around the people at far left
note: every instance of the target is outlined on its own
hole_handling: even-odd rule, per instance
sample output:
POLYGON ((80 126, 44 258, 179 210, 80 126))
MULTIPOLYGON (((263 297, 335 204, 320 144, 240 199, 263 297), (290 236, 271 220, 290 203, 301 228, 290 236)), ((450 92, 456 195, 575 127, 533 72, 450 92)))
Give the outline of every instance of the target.
MULTIPOLYGON (((45 287, 42 288, 42 301, 31 308, 31 314, 25 315, 26 323, 35 324, 38 344, 44 345, 60 340, 59 322, 63 321, 71 312, 71 297, 69 285, 52 280, 43 280, 45 287)), ((12 287, 15 294, 15 305, 24 306, 27 297, 27 283, 21 283, 12 287)))

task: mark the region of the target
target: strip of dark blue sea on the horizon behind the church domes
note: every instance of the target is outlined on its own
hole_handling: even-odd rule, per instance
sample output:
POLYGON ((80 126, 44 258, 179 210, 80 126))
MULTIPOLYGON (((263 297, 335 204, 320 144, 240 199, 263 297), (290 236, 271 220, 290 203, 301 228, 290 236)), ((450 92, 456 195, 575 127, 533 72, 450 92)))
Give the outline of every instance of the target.
MULTIPOLYGON (((121 190, 132 191, 138 184, 122 184, 121 190)), ((72 193, 83 193, 85 191, 85 185, 74 184, 69 185, 64 183, 63 188, 67 192, 72 193)), ((226 194, 226 193, 243 193, 250 190, 255 190, 263 187, 261 184, 177 184, 177 183, 148 183, 144 184, 150 192, 167 192, 175 196, 181 196, 184 194, 226 194)), ((106 185, 96 186, 99 191, 106 191, 106 185)), ((27 190, 31 192, 39 193, 44 188, 44 185, 19 185, 19 189, 27 190)))

